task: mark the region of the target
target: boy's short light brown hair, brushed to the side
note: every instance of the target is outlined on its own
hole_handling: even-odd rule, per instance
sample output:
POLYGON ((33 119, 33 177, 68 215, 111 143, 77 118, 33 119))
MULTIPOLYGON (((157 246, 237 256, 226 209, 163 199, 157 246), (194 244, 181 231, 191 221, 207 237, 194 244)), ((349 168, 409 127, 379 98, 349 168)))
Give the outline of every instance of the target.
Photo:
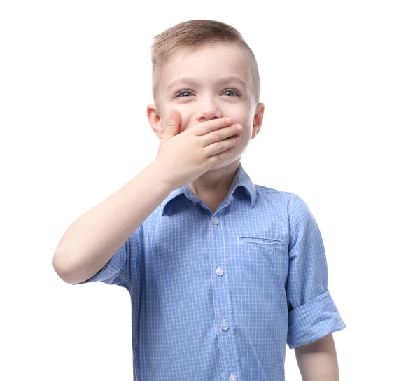
POLYGON ((255 90, 255 102, 260 102, 260 74, 255 55, 244 37, 234 27, 214 20, 189 20, 154 37, 151 47, 152 56, 152 95, 153 102, 158 103, 158 86, 160 71, 169 60, 181 51, 193 51, 213 43, 232 43, 245 49, 251 65, 251 80, 255 90))

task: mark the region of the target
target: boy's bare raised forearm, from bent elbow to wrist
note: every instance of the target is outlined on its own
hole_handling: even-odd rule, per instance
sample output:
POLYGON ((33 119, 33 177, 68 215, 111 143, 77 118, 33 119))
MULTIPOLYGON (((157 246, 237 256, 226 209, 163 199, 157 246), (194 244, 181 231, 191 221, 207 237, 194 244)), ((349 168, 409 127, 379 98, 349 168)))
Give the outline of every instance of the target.
POLYGON ((155 160, 71 224, 52 258, 55 272, 64 282, 83 282, 104 267, 172 192, 164 174, 165 168, 155 160))

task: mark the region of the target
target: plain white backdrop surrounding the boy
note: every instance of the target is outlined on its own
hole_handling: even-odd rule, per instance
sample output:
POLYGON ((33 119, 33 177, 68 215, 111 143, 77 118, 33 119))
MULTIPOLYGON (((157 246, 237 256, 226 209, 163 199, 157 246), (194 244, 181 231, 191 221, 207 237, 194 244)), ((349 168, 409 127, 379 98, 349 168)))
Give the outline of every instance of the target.
POLYGON ((200 18, 257 57, 264 121, 241 162, 315 216, 340 380, 418 379, 419 3, 369 0, 1 2, 0 379, 132 380, 130 294, 66 284, 52 256, 155 159, 153 37, 200 18))

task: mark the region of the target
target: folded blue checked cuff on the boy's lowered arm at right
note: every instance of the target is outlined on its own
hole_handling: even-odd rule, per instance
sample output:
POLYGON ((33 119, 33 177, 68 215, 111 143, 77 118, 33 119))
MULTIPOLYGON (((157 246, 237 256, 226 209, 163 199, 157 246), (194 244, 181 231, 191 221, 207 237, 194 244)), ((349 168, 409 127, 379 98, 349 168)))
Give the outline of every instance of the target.
POLYGON ((287 345, 290 349, 346 328, 329 290, 290 311, 288 320, 287 345))

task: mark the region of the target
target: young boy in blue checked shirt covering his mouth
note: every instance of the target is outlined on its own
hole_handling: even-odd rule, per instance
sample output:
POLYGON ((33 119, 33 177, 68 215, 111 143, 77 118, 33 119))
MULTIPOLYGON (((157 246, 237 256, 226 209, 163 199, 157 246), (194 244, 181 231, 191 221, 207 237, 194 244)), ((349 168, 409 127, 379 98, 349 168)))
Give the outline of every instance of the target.
POLYGON ((66 230, 55 270, 130 292, 134 380, 283 381, 286 343, 303 380, 339 380, 314 216, 240 164, 264 114, 251 48, 192 20, 155 37, 152 63, 158 155, 66 230))

